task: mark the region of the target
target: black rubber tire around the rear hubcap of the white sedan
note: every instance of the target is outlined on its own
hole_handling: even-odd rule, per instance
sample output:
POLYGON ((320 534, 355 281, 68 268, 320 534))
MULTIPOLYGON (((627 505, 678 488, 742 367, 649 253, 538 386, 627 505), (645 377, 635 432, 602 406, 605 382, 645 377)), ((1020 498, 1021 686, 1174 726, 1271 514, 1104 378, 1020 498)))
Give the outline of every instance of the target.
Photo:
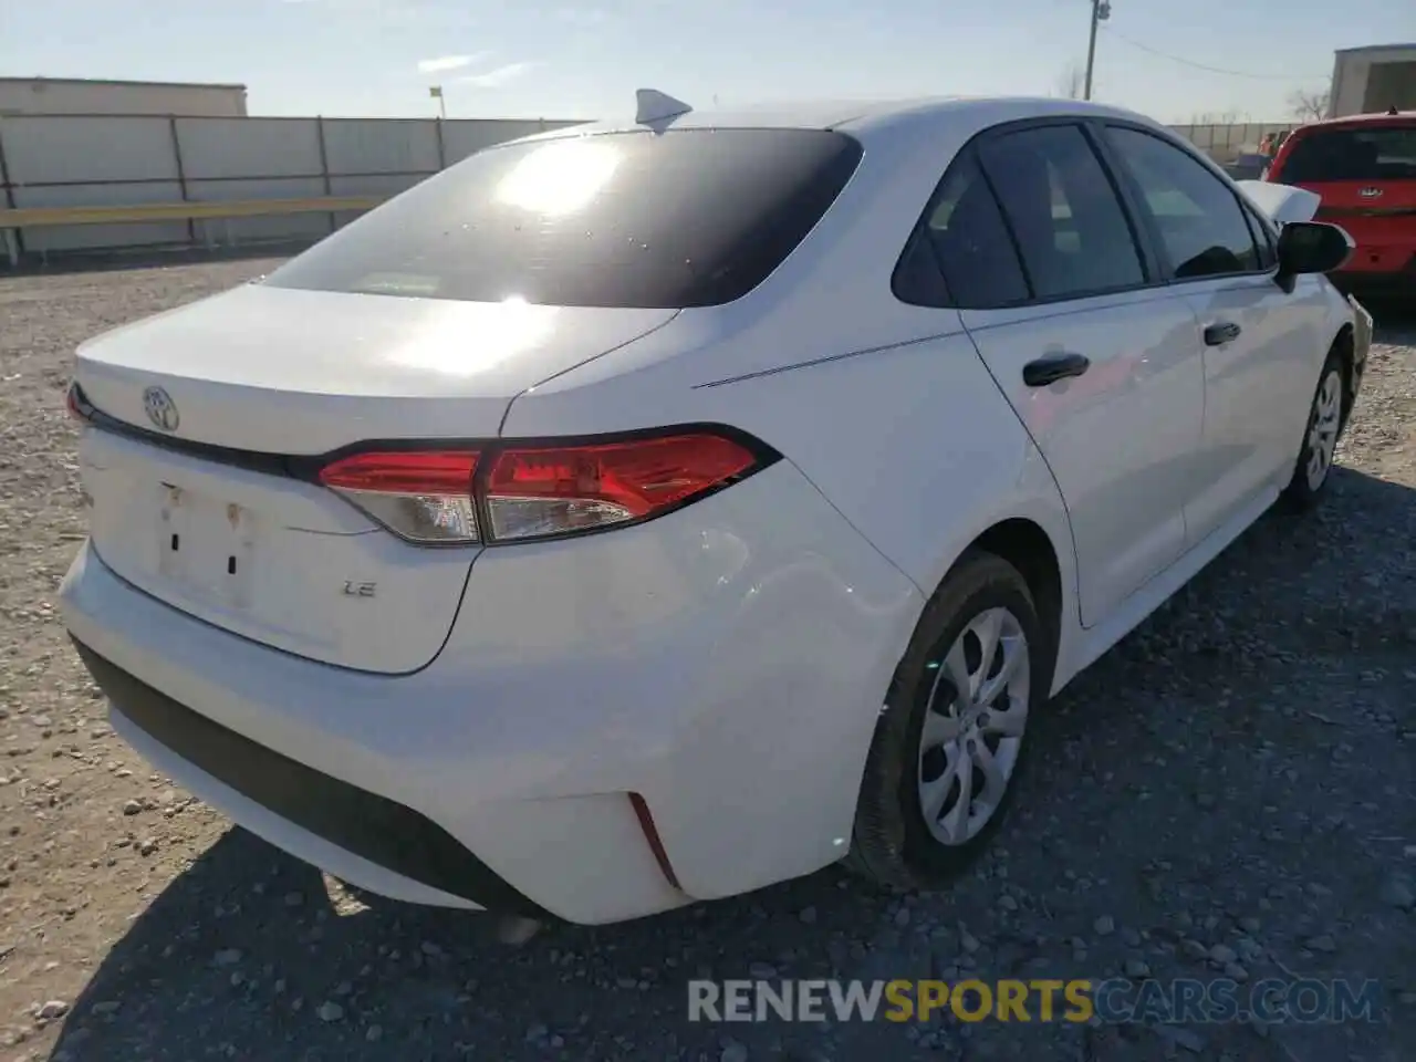
POLYGON ((918 786, 919 746, 937 661, 971 620, 1000 606, 1014 615, 1027 637, 1029 718, 1048 698, 1055 646, 1038 619, 1027 582, 1017 568, 994 554, 966 552, 925 606, 867 755, 851 848, 843 865, 877 886, 947 885, 978 857, 1007 817, 1028 759, 1027 732, 997 810, 963 844, 946 845, 933 837, 918 786))

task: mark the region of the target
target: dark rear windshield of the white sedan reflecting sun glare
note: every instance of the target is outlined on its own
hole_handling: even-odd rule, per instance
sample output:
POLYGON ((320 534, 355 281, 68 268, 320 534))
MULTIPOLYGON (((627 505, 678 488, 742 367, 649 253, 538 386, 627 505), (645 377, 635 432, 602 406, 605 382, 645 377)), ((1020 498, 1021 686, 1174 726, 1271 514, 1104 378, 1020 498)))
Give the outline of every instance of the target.
POLYGON ((855 171, 817 129, 626 132, 480 152, 316 244, 276 287, 551 306, 732 302, 855 171))

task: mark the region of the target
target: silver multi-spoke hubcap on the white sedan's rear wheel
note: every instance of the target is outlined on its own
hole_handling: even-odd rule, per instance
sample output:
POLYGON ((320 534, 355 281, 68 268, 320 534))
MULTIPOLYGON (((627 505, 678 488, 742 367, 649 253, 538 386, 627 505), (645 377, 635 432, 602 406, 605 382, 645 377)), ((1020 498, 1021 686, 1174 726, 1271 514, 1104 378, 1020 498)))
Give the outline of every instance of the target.
POLYGON ((959 845, 998 810, 1018 763, 1032 677, 1028 639, 1008 609, 988 609, 930 667, 919 806, 935 840, 959 845))

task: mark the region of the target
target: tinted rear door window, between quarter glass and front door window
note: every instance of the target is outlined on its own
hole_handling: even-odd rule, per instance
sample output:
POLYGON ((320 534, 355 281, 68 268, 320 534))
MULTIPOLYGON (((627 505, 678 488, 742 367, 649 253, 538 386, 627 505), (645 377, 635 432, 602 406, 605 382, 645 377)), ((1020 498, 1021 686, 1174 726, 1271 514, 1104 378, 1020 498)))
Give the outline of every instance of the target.
POLYGON ((980 157, 1038 299, 1146 283, 1120 200, 1080 129, 1007 133, 986 142, 980 157))

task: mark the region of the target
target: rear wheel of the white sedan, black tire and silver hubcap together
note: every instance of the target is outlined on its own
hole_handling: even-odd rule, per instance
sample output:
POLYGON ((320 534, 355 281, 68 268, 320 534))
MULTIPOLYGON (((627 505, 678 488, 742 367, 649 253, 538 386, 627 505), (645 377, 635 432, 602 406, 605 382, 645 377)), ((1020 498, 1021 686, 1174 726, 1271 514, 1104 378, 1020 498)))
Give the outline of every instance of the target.
POLYGON ((1017 789, 1052 657, 1022 575, 964 554, 925 606, 877 722, 843 861, 851 872, 933 889, 983 852, 1017 789))

